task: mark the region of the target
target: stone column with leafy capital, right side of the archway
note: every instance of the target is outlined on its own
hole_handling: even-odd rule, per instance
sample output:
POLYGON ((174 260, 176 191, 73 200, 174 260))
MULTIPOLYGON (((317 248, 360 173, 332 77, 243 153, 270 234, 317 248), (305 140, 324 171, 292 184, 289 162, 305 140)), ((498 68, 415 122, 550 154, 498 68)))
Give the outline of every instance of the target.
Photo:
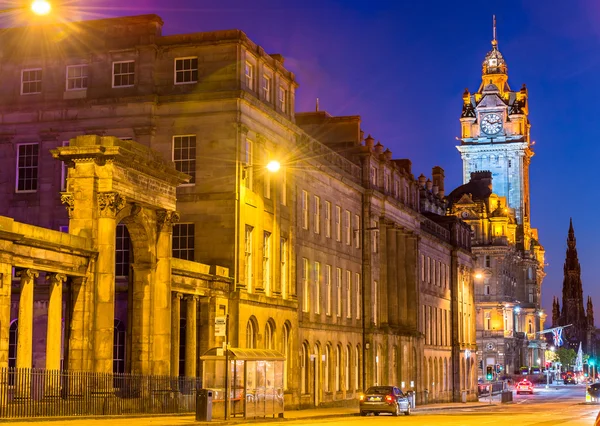
MULTIPOLYGON (((154 281, 150 286, 152 309, 152 374, 168 375, 171 367, 171 256, 173 224, 179 222, 176 211, 156 213, 157 241, 154 281)), ((179 320, 177 320, 179 329, 179 320)), ((179 360, 177 360, 179 363, 179 360)))

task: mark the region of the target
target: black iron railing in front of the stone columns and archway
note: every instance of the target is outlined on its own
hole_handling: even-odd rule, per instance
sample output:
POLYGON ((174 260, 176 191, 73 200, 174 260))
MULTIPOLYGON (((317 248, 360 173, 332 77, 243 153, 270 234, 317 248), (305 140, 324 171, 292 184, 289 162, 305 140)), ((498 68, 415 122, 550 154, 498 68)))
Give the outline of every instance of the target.
POLYGON ((0 370, 0 419, 191 413, 200 379, 87 371, 0 370))

